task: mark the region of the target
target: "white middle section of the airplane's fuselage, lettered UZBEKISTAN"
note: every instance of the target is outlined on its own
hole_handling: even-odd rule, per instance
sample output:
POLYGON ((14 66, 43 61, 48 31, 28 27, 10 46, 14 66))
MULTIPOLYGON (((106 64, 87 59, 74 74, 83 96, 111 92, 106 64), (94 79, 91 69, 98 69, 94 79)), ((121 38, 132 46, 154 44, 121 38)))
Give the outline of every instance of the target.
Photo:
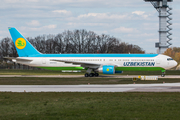
POLYGON ((114 65, 116 67, 161 67, 170 69, 177 65, 174 60, 167 60, 168 56, 157 55, 156 57, 19 57, 25 60, 13 60, 16 63, 33 67, 80 67, 71 63, 51 61, 60 59, 64 61, 75 61, 83 63, 95 63, 103 65, 114 65), (29 60, 29 61, 28 61, 29 60))

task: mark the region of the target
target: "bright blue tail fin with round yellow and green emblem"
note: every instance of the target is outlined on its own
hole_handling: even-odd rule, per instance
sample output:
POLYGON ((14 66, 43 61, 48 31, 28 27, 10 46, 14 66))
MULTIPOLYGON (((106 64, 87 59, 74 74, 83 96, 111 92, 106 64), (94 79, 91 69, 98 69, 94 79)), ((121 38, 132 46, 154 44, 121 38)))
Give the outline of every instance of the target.
POLYGON ((10 27, 9 32, 13 39, 19 57, 29 57, 32 55, 41 54, 38 52, 31 43, 24 38, 16 28, 10 27))

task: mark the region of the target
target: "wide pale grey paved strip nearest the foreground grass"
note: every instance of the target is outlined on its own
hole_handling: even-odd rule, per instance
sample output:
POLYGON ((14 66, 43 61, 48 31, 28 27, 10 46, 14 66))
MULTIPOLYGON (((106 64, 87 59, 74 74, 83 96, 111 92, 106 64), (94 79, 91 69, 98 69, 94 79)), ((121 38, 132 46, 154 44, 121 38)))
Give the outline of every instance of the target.
POLYGON ((0 92, 180 92, 180 83, 123 85, 0 85, 0 92))

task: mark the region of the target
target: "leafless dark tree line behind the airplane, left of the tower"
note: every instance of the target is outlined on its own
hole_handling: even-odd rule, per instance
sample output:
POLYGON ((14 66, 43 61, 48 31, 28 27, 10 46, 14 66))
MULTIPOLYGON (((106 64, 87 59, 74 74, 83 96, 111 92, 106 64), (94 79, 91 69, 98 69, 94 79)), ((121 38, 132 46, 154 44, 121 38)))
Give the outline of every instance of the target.
MULTIPOLYGON (((109 35, 97 35, 92 31, 64 31, 57 35, 39 35, 28 37, 29 42, 41 53, 145 53, 137 45, 121 42, 109 35)), ((17 51, 11 38, 0 41, 0 60, 3 57, 17 57, 17 51)))

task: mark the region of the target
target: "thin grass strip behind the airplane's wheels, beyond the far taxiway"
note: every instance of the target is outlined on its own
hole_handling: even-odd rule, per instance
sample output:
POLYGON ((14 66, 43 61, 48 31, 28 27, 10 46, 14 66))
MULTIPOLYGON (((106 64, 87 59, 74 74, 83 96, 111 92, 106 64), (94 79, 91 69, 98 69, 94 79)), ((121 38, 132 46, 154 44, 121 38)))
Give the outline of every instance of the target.
MULTIPOLYGON (((80 73, 63 73, 61 71, 51 70, 9 70, 0 69, 0 75, 84 75, 85 71, 80 73)), ((124 71, 117 75, 161 75, 161 71, 124 71)), ((180 75, 180 71, 168 70, 166 75, 180 75)))

